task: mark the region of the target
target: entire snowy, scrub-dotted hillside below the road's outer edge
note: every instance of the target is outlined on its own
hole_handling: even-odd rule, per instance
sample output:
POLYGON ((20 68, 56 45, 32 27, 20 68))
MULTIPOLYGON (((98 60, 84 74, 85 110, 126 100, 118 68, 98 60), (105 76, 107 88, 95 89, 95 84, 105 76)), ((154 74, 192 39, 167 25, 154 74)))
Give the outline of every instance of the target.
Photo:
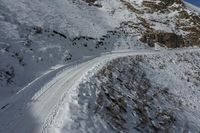
POLYGON ((200 131, 200 53, 164 51, 108 62, 66 97, 46 132, 200 131))

